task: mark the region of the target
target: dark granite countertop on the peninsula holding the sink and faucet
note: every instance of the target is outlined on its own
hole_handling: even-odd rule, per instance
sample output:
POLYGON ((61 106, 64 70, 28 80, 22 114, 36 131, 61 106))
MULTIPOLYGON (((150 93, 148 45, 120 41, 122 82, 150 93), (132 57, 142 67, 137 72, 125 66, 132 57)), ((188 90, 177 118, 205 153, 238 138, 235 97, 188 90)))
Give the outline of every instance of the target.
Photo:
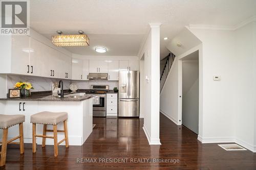
MULTIPOLYGON (((65 90, 65 95, 67 94, 73 94, 76 93, 70 93, 67 90, 65 90)), ((77 96, 77 95, 76 95, 77 96)), ((92 95, 86 94, 86 95, 79 95, 78 97, 74 96, 66 96, 65 98, 58 98, 57 96, 53 96, 50 91, 41 91, 41 92, 32 92, 32 95, 28 98, 2 98, 0 100, 2 101, 56 101, 56 102, 80 102, 84 100, 88 100, 93 98, 92 95)))

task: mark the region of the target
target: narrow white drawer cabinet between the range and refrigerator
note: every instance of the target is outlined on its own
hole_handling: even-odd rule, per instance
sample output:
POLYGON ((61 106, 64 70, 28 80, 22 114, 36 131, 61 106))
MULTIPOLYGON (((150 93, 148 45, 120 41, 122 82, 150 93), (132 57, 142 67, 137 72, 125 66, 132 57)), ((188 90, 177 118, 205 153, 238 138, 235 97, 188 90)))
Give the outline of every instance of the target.
POLYGON ((106 94, 106 116, 117 116, 117 93, 106 94))

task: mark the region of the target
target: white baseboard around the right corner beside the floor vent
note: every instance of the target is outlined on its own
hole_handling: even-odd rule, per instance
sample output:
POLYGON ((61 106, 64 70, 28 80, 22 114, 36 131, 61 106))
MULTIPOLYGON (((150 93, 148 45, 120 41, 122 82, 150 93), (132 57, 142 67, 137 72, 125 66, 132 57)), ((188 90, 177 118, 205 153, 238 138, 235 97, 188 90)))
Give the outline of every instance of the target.
POLYGON ((243 140, 236 139, 232 136, 229 137, 202 137, 198 135, 197 138, 202 143, 237 143, 241 145, 242 147, 246 148, 247 150, 250 150, 252 152, 256 152, 256 145, 251 145, 243 140))

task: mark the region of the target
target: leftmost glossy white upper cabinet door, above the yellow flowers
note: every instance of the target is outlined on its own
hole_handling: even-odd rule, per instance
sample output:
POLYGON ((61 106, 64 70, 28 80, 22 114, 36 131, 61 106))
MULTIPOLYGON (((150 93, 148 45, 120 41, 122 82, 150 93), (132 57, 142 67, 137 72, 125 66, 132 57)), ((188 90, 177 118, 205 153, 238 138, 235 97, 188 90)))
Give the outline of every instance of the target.
POLYGON ((29 37, 26 35, 12 36, 11 73, 29 75, 29 37))

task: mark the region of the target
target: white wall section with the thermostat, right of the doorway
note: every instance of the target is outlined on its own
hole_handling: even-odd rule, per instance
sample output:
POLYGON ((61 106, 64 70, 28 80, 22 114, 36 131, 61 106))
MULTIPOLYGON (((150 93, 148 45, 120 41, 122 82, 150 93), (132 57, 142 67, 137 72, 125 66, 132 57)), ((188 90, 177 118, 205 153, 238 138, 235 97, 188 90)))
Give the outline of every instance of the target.
MULTIPOLYGON (((202 141, 230 141, 234 136, 232 31, 191 30, 203 42, 202 141), (213 81, 213 76, 222 77, 213 81)), ((199 136, 200 137, 200 136, 199 136)))

